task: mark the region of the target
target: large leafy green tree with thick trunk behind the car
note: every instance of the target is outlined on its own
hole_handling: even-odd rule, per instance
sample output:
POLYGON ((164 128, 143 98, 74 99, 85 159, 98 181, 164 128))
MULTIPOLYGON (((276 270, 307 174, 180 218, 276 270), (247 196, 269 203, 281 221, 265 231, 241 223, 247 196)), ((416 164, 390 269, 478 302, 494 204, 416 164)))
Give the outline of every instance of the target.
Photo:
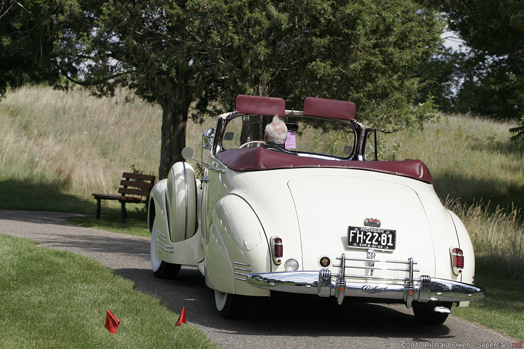
MULTIPOLYGON (((37 0, 26 0, 39 3, 37 0)), ((162 108, 159 176, 180 161, 189 110, 231 108, 237 94, 352 100, 384 131, 421 125, 410 105, 418 62, 441 22, 411 1, 48 0, 49 62, 99 95, 126 86, 162 108), (194 103, 194 104, 192 104, 194 103)))

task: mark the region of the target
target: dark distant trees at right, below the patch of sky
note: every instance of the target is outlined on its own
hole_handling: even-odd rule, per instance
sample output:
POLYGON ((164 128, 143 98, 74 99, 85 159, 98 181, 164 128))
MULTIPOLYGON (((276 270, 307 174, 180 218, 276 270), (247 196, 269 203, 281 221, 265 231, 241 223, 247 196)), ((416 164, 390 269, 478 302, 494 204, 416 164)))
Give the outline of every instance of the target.
POLYGON ((524 109, 524 80, 511 71, 507 57, 442 48, 421 63, 419 77, 427 82, 420 98, 434 96, 442 111, 516 119, 524 109))

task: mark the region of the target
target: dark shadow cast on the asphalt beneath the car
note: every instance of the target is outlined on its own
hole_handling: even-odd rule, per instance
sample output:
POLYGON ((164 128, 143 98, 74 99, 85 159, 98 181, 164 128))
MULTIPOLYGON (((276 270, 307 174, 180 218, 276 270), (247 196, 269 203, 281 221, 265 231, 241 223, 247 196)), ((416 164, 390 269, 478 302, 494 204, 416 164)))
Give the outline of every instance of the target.
POLYGON ((185 307, 190 323, 213 332, 257 336, 372 336, 412 338, 413 341, 452 338, 445 325, 418 324, 404 305, 384 306, 345 300, 341 306, 331 298, 278 295, 255 298, 246 318, 226 320, 215 308, 214 293, 205 286, 194 267, 182 267, 176 279, 156 278, 147 269, 117 269, 117 274, 133 280, 137 289, 152 295, 173 311, 185 307))

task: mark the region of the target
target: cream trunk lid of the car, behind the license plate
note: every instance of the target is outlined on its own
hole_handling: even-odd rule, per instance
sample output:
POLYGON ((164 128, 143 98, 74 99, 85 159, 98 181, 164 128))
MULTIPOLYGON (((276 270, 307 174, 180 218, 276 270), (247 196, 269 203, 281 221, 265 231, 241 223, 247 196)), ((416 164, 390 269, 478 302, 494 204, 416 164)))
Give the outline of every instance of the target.
MULTIPOLYGON (((356 171, 350 176, 297 177, 288 186, 297 210, 304 270, 322 267, 322 256, 337 264, 335 257, 342 253, 367 258, 368 250, 374 250, 377 260, 407 261, 412 257, 420 269, 415 277, 434 274, 430 227, 417 193, 409 186, 386 177, 359 176, 356 171)), ((346 272, 369 275, 365 269, 346 272)), ((407 276, 404 272, 394 274, 407 276)), ((392 274, 375 271, 374 275, 392 274)))

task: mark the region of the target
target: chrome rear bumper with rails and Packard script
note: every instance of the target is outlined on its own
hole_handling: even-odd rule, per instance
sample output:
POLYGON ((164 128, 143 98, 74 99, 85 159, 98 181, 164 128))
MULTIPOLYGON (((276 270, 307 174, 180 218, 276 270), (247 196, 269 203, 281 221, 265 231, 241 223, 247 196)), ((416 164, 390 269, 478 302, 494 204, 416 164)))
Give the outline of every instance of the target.
POLYGON ((368 269, 406 271, 409 275, 406 278, 346 275, 346 268, 359 268, 358 266, 346 266, 347 261, 368 260, 346 258, 344 254, 336 259, 341 261, 340 265, 334 265, 334 267, 340 267, 339 274, 332 274, 327 269, 304 272, 250 273, 246 276, 246 282, 256 287, 275 291, 316 294, 320 297, 335 296, 339 304, 342 304, 344 297, 366 297, 400 300, 411 308, 412 301, 460 302, 484 297, 484 289, 481 287, 431 278, 427 275, 413 278, 413 272, 416 271, 413 269, 413 264, 416 262, 413 262, 412 258, 409 258, 408 262, 374 260, 374 262, 403 263, 408 265, 406 269, 366 267, 368 269), (353 279, 359 279, 359 281, 353 281, 353 279))

